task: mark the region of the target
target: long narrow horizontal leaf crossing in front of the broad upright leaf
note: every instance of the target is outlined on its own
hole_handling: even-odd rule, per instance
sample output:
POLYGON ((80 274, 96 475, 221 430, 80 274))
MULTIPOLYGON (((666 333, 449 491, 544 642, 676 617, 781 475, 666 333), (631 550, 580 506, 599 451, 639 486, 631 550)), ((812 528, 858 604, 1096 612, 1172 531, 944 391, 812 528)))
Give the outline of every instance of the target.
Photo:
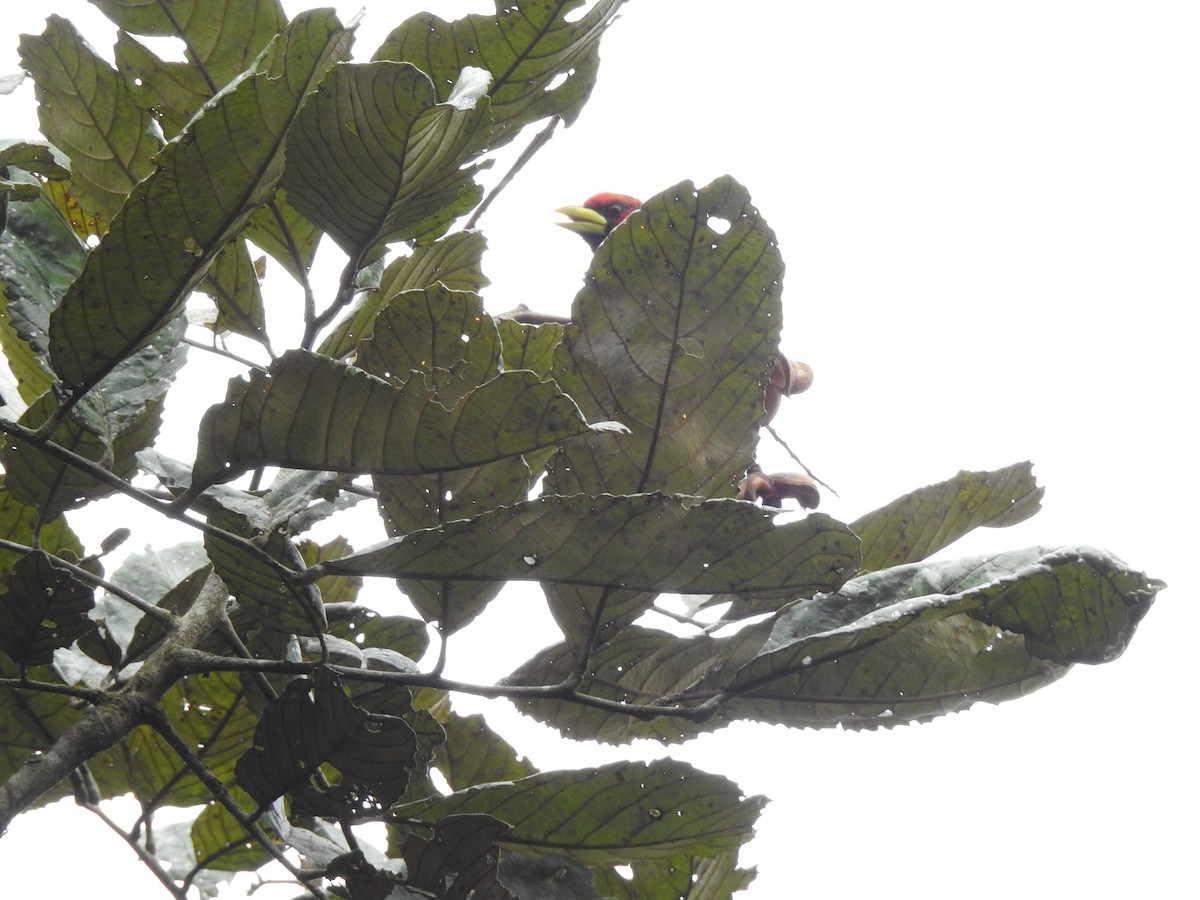
POLYGON ((542 497, 384 541, 318 570, 776 596, 810 595, 857 571, 858 539, 846 526, 821 514, 776 526, 774 515, 740 500, 542 497))

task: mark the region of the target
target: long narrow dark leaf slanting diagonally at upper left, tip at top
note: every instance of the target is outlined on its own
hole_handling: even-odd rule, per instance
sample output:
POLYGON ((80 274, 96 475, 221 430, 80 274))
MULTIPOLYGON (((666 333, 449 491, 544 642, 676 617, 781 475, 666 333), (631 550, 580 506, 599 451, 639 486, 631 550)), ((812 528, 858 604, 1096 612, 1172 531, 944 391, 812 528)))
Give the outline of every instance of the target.
POLYGON ((296 18, 257 72, 156 157, 50 316, 50 358, 67 388, 91 388, 143 347, 274 196, 287 133, 348 41, 329 12, 296 18))

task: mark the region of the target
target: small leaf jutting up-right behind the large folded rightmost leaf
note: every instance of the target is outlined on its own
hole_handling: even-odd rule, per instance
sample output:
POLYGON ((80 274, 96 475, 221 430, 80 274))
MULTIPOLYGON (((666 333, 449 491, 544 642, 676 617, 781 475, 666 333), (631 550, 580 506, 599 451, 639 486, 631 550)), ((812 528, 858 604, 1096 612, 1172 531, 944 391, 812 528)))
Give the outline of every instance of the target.
POLYGON ((984 526, 1004 528, 1036 514, 1045 490, 1032 463, 996 472, 960 472, 868 512, 850 527, 863 539, 863 569, 917 563, 984 526))

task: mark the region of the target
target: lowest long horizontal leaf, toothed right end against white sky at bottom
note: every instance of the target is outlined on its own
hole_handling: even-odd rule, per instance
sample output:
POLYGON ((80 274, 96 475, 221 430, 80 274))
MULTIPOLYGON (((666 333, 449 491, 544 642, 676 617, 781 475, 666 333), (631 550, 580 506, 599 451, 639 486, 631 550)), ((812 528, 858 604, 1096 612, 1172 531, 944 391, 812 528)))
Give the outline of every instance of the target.
POLYGON ((734 850, 754 832, 766 799, 728 779, 672 760, 544 772, 511 784, 478 785, 392 808, 400 822, 487 814, 508 823, 502 839, 524 853, 564 853, 620 864, 734 850))

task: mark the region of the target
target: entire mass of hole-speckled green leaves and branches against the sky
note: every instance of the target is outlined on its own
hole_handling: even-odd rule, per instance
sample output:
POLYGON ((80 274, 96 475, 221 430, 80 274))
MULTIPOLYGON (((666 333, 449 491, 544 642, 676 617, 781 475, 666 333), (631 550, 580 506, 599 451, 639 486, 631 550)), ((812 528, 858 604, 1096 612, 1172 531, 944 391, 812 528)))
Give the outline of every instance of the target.
POLYGON ((0 827, 132 791, 128 840, 176 896, 277 859, 317 896, 721 898, 752 877, 762 798, 670 758, 539 772, 452 695, 617 744, 892 726, 1110 660, 1150 607, 1160 584, 1094 548, 926 562, 1036 512, 1026 463, 848 524, 737 498, 784 265, 732 179, 648 200, 569 323, 485 312, 475 175, 580 114, 622 0, 421 13, 367 62, 329 11, 94 2, 115 67, 50 17, 20 44, 48 143, 0 150, 0 827), (138 40, 163 35, 186 62, 138 40), (328 298, 322 238, 347 258, 328 298), (296 347, 268 336, 268 266, 294 280, 296 347), (233 358, 229 335, 245 376, 169 458, 188 349, 233 358), (122 529, 84 547, 66 514, 113 494, 198 540, 107 574, 122 529), (386 541, 305 536, 364 500, 386 541), (416 617, 359 604, 365 577, 416 617), (562 642, 498 684, 446 678, 511 580, 540 584, 562 642), (166 806, 199 809, 162 828, 166 806))

